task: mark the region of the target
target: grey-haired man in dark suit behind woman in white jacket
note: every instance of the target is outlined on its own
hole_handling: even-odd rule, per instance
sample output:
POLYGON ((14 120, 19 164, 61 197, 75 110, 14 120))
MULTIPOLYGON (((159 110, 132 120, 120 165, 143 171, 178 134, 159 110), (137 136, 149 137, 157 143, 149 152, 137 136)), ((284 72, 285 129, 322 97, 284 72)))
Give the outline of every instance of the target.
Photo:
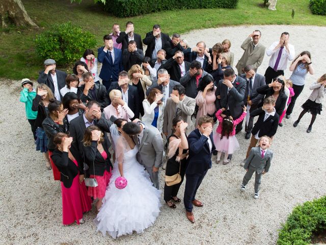
POLYGON ((172 93, 173 87, 175 85, 180 85, 180 83, 171 80, 169 72, 166 69, 159 69, 157 71, 157 77, 157 81, 154 81, 152 86, 147 89, 146 96, 149 95, 153 88, 157 88, 162 91, 163 97, 161 101, 166 104, 168 97, 170 97, 170 94, 172 93))

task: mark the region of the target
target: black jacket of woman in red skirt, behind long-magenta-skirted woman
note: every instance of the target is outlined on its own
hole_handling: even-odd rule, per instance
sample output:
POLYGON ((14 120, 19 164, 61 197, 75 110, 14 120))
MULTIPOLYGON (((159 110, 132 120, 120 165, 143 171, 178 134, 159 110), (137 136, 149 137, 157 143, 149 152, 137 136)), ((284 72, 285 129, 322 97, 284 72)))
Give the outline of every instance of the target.
POLYGON ((57 124, 57 122, 53 121, 50 116, 47 116, 42 122, 43 129, 48 138, 47 140, 47 149, 53 152, 56 150, 56 145, 53 143, 53 138, 57 133, 67 133, 68 132, 68 124, 66 118, 63 119, 63 124, 57 124))

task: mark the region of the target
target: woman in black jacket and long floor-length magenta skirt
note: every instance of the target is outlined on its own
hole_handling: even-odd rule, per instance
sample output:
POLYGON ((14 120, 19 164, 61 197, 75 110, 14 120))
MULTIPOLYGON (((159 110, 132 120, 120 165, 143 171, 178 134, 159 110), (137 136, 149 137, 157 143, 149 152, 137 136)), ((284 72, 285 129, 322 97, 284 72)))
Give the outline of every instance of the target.
POLYGON ((51 158, 56 164, 61 175, 62 193, 62 223, 70 225, 75 221, 84 224, 83 213, 92 208, 92 200, 87 194, 82 167, 78 165, 81 159, 77 154, 72 155, 69 148, 72 137, 65 133, 58 133, 53 138, 57 149, 53 151, 51 158))

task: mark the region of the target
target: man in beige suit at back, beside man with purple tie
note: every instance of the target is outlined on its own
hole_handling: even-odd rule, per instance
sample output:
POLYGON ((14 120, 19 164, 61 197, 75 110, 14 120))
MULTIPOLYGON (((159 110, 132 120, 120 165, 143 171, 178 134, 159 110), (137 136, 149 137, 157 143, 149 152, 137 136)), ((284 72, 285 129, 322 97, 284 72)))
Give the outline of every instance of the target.
POLYGON ((244 50, 244 53, 235 66, 239 76, 244 73, 243 69, 247 65, 252 65, 255 72, 257 72, 257 68, 263 62, 266 47, 259 42, 260 38, 261 32, 255 30, 243 41, 241 48, 244 50))

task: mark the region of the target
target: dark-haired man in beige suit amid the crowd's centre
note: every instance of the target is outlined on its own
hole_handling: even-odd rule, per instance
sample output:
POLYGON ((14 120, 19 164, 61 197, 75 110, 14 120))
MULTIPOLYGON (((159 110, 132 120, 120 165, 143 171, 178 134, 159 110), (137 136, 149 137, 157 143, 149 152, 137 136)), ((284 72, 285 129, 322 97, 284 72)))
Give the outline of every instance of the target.
POLYGON ((186 134, 191 133, 195 129, 192 121, 195 106, 195 99, 185 95, 185 88, 180 84, 175 85, 164 108, 163 133, 167 137, 172 134, 172 120, 176 116, 181 116, 188 124, 186 134))

